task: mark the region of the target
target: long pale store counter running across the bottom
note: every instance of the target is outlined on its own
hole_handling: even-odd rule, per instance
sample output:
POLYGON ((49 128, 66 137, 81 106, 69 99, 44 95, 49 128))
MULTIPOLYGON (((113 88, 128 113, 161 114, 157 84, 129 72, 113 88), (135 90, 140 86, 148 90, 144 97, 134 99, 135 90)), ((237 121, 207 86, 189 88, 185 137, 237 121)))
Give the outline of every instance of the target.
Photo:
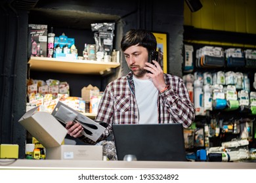
POLYGON ((0 169, 256 169, 256 163, 0 159, 0 169))

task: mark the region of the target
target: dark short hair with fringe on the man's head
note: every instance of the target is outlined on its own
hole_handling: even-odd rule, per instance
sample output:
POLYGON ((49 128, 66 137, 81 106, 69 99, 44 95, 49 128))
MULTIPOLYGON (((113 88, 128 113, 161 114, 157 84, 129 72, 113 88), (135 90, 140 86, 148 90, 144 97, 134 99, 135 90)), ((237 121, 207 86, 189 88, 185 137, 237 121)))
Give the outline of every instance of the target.
POLYGON ((156 50, 156 37, 150 31, 143 29, 131 29, 121 41, 121 50, 124 52, 130 46, 137 45, 146 48, 148 51, 156 50))

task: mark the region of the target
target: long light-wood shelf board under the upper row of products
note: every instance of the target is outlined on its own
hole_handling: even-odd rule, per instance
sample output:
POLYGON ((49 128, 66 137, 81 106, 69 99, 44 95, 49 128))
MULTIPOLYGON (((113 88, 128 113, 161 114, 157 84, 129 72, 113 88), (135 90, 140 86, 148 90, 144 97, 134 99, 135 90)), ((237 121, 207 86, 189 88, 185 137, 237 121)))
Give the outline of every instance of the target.
POLYGON ((28 63, 32 70, 87 75, 103 75, 106 71, 110 72, 111 69, 120 66, 120 63, 116 62, 41 57, 32 57, 28 63))

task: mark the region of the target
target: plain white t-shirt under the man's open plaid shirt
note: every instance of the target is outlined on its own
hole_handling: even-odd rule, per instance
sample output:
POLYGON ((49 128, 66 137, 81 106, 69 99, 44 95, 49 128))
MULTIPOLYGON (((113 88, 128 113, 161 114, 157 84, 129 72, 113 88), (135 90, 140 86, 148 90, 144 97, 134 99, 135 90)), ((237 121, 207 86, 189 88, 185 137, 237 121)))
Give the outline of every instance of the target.
POLYGON ((151 79, 140 80, 133 76, 133 80, 139 107, 139 124, 158 124, 158 89, 151 79))

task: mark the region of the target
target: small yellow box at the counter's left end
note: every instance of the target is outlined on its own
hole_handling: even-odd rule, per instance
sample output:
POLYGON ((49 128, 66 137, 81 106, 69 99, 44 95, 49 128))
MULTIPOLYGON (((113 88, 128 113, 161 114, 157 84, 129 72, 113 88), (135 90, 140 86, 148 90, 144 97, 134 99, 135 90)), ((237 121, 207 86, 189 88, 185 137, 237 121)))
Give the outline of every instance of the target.
POLYGON ((18 144, 0 144, 0 158, 18 159, 18 144))

